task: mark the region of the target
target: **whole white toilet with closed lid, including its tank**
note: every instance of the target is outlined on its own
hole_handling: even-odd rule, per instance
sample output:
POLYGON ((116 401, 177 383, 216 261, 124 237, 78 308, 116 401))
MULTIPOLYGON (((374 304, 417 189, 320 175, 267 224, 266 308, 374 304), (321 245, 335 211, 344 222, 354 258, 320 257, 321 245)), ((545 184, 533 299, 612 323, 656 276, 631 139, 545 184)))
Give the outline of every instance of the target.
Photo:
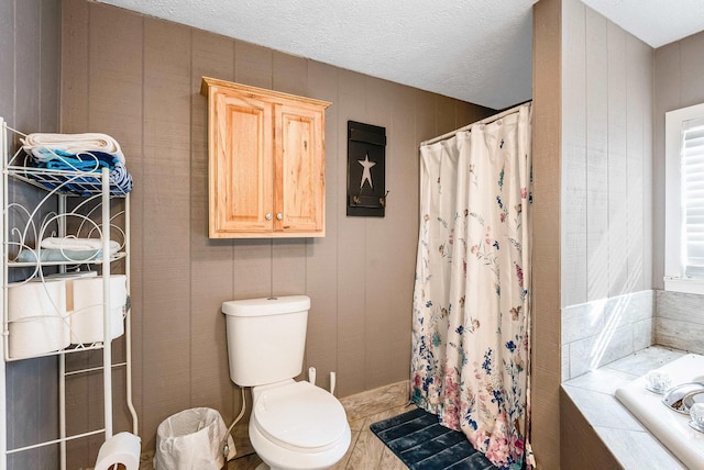
POLYGON ((272 470, 327 469, 350 447, 338 399, 294 380, 302 370, 309 309, 306 295, 222 303, 230 379, 253 388, 250 439, 272 470))

